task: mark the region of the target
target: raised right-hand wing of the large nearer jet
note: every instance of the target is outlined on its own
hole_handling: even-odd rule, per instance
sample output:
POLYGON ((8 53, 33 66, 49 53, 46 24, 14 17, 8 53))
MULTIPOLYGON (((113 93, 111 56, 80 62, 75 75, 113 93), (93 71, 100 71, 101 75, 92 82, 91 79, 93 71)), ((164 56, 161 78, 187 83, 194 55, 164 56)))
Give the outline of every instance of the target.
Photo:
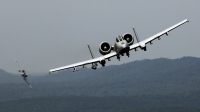
POLYGON ((130 49, 131 49, 131 50, 132 50, 132 49, 135 49, 135 50, 136 50, 136 48, 140 47, 141 45, 144 46, 144 45, 146 45, 146 44, 148 44, 148 43, 151 43, 153 40, 155 40, 155 39, 157 39, 157 38, 160 39, 161 36, 163 36, 163 35, 165 35, 165 34, 168 35, 168 33, 169 33, 170 31, 172 31, 173 29, 175 29, 175 28, 177 28, 177 27, 183 25, 183 24, 186 23, 186 22, 189 22, 189 20, 185 19, 185 20, 183 20, 183 21, 181 21, 181 22, 179 22, 179 23, 177 23, 177 24, 175 24, 175 25, 173 25, 173 26, 171 26, 171 27, 165 29, 164 31, 161 31, 160 33, 157 33, 157 34, 155 34, 155 35, 153 35, 153 36, 151 36, 151 37, 149 37, 149 38, 147 38, 147 39, 145 39, 145 40, 143 40, 143 41, 141 41, 141 42, 139 42, 139 43, 137 43, 137 44, 133 44, 133 45, 130 46, 130 49))

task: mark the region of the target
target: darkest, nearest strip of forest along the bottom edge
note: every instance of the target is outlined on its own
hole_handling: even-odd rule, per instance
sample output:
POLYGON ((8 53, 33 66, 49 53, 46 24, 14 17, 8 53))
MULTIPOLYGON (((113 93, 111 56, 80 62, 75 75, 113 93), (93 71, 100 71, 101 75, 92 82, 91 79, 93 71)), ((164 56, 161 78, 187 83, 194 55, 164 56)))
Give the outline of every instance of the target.
POLYGON ((184 96, 46 96, 0 103, 1 112, 199 112, 184 96))

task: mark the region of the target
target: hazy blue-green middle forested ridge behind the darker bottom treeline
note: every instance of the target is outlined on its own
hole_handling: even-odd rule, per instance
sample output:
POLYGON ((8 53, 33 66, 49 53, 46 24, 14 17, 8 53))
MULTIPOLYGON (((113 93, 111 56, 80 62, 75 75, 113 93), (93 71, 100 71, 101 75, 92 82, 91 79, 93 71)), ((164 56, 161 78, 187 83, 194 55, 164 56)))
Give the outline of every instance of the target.
MULTIPOLYGON (((0 84, 0 101, 37 96, 190 95, 200 91, 200 59, 154 59, 30 77, 30 89, 21 83, 0 84), (37 82, 39 81, 39 82, 37 82)), ((6 79, 4 79, 6 80, 6 79)))

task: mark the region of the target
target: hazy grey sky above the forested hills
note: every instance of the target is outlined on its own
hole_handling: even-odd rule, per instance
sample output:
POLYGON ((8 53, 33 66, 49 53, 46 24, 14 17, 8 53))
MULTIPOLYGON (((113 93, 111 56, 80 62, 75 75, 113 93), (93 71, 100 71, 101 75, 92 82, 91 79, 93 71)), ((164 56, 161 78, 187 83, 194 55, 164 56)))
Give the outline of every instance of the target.
POLYGON ((199 0, 0 0, 0 68, 17 73, 17 58, 29 74, 48 73, 90 59, 87 43, 98 57, 102 41, 113 45, 117 35, 133 34, 132 27, 144 40, 184 19, 190 22, 147 45, 146 52, 114 57, 107 65, 200 57, 199 11, 199 0))

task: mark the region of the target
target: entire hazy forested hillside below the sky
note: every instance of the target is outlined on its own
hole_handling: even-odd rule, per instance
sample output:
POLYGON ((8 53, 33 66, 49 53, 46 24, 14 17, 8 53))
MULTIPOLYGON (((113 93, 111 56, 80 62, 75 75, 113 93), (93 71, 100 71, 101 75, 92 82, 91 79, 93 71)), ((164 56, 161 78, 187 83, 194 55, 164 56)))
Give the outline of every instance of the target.
POLYGON ((30 75, 30 89, 19 74, 0 70, 0 111, 200 111, 200 58, 144 59, 72 71, 30 75))

